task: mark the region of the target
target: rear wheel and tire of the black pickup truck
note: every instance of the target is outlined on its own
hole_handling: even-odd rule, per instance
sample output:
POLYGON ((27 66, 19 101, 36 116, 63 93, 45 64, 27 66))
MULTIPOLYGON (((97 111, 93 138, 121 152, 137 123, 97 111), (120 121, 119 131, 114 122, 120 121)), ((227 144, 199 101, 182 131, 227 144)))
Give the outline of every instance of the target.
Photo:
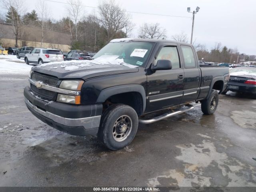
POLYGON ((216 90, 212 90, 210 97, 202 101, 201 110, 206 115, 214 114, 219 102, 219 94, 216 90))

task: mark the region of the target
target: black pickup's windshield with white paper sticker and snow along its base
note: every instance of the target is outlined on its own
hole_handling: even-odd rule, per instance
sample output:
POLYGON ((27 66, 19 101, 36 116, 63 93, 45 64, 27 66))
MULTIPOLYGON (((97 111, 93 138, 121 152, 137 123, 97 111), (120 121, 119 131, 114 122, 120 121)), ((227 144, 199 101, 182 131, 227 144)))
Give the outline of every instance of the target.
POLYGON ((109 61, 122 59, 133 66, 142 66, 153 45, 152 42, 112 42, 104 46, 93 58, 104 58, 109 61))

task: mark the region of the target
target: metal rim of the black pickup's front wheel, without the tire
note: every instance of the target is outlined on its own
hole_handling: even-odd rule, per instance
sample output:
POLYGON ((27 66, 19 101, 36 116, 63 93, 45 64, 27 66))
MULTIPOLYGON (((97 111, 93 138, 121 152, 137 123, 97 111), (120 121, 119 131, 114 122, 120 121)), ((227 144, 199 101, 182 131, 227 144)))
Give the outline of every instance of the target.
POLYGON ((128 115, 120 116, 114 123, 112 136, 115 141, 122 142, 132 131, 132 119, 128 115))

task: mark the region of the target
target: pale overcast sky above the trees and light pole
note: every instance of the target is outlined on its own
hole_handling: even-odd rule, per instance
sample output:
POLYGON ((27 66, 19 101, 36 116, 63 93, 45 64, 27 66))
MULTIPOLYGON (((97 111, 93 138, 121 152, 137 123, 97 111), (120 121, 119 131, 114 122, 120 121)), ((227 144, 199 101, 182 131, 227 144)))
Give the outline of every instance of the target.
MULTIPOLYGON (((67 0, 54 0, 67 2, 67 0)), ((36 8, 38 0, 24 0, 26 11, 36 8)), ((200 7, 195 15, 193 42, 205 44, 208 49, 214 47, 216 42, 222 46, 236 48, 240 53, 256 55, 256 1, 255 0, 116 0, 120 6, 131 12, 144 12, 173 16, 188 16, 179 18, 168 16, 155 16, 132 13, 132 22, 136 28, 131 37, 138 36, 138 28, 144 23, 160 23, 167 31, 167 39, 184 32, 190 42, 192 29, 192 14, 187 12, 200 7)), ((66 16, 66 4, 48 2, 50 18, 58 20, 66 16)), ((97 7, 97 0, 82 0, 86 6, 97 7)), ((95 8, 83 8, 84 15, 97 12, 95 8)))

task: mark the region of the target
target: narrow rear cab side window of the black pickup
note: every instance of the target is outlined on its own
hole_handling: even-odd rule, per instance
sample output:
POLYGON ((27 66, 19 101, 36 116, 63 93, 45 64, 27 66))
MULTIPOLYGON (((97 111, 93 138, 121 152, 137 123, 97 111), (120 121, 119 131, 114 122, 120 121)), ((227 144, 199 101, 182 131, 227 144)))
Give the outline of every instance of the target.
POLYGON ((182 50, 185 68, 195 68, 196 59, 192 48, 187 45, 181 45, 180 48, 182 50))

